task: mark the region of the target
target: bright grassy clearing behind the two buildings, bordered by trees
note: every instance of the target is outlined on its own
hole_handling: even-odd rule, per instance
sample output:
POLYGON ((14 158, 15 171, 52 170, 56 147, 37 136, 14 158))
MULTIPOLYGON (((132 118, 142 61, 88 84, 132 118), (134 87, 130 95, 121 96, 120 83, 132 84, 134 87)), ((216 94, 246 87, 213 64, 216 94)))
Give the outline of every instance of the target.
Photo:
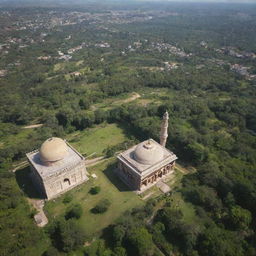
POLYGON ((95 128, 75 132, 68 138, 70 143, 82 154, 103 155, 109 146, 115 146, 127 140, 122 128, 117 124, 102 124, 95 128))

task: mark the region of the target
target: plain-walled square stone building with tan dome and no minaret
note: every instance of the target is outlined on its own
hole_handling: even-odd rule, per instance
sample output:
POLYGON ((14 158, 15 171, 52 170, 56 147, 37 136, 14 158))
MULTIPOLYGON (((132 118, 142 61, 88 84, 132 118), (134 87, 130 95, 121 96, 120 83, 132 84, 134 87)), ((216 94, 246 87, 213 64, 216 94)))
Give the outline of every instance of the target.
POLYGON ((85 158, 60 138, 49 138, 26 154, 38 191, 52 199, 88 180, 85 158))

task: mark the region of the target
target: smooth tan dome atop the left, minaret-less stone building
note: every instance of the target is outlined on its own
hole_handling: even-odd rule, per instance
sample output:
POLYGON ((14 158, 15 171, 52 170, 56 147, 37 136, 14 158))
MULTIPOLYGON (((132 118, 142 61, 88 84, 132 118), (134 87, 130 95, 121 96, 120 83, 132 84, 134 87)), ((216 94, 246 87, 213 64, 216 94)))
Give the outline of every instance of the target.
POLYGON ((68 146, 64 140, 53 137, 42 144, 39 153, 41 161, 56 162, 67 156, 68 146))

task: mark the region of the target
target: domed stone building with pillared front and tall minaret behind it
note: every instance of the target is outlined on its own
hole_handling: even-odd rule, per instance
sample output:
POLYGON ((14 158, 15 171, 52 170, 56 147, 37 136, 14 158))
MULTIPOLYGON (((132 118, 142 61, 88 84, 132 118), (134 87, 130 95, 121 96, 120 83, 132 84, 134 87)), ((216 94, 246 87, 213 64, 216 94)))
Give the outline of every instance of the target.
POLYGON ((117 174, 132 190, 143 192, 174 172, 177 156, 165 148, 168 119, 166 112, 161 125, 160 144, 149 139, 117 156, 117 174))

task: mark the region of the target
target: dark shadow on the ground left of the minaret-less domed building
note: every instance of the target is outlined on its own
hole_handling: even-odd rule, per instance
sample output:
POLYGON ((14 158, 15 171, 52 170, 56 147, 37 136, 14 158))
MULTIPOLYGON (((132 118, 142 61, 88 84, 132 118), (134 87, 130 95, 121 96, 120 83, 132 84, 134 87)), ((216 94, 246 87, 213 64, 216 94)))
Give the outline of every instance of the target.
POLYGON ((16 181, 24 194, 33 199, 45 199, 35 188, 30 177, 30 168, 25 167, 15 172, 16 181))

